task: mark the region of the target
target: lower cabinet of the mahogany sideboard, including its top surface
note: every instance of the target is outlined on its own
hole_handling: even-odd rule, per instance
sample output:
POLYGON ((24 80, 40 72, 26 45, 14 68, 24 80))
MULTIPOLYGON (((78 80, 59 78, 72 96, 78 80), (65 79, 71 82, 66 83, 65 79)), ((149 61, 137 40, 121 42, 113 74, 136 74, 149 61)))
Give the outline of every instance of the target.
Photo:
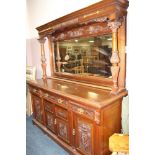
POLYGON ((59 79, 28 82, 33 122, 71 154, 107 155, 108 139, 121 132, 121 102, 127 91, 109 90, 59 79))

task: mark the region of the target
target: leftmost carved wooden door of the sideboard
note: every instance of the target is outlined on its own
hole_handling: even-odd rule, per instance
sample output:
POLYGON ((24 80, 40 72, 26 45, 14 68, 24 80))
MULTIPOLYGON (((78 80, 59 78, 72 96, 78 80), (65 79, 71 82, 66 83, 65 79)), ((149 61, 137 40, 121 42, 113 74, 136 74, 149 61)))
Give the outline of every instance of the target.
POLYGON ((43 108, 41 104, 41 98, 39 96, 32 95, 32 100, 33 100, 34 117, 40 123, 43 123, 43 108))

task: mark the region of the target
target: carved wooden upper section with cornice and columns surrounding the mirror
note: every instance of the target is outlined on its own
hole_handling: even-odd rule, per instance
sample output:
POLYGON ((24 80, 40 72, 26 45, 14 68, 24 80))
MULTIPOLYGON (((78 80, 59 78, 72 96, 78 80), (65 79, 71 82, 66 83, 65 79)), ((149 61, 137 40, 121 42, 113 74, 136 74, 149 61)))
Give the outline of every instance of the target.
MULTIPOLYGON (((117 94, 125 89, 125 42, 126 42, 126 15, 127 0, 104 0, 75 11, 45 25, 37 27, 40 39, 48 38, 50 48, 51 76, 102 85, 112 89, 117 94), (81 37, 98 36, 112 33, 113 54, 111 58, 112 79, 99 77, 81 77, 67 73, 55 72, 54 42, 81 37), (118 43, 117 43, 118 41, 118 43)), ((44 41, 41 42, 41 44, 44 41)), ((46 63, 42 47, 43 78, 46 76, 46 63)), ((60 66, 60 58, 57 65, 60 66)))

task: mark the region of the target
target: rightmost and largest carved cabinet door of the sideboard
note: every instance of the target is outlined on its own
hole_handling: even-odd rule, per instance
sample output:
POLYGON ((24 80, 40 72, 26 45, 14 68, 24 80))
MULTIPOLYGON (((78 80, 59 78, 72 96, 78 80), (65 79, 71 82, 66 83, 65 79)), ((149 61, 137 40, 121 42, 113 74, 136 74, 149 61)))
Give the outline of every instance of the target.
POLYGON ((94 155, 94 125, 93 122, 74 115, 75 147, 84 155, 94 155))

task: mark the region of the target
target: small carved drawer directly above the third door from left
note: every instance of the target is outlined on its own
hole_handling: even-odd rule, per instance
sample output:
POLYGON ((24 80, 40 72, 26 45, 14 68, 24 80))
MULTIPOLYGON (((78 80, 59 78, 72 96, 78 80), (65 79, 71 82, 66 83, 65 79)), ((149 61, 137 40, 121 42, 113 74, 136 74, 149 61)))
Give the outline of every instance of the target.
POLYGON ((59 106, 55 106, 55 114, 56 114, 56 116, 58 116, 60 118, 68 120, 68 111, 64 108, 61 108, 59 106))

